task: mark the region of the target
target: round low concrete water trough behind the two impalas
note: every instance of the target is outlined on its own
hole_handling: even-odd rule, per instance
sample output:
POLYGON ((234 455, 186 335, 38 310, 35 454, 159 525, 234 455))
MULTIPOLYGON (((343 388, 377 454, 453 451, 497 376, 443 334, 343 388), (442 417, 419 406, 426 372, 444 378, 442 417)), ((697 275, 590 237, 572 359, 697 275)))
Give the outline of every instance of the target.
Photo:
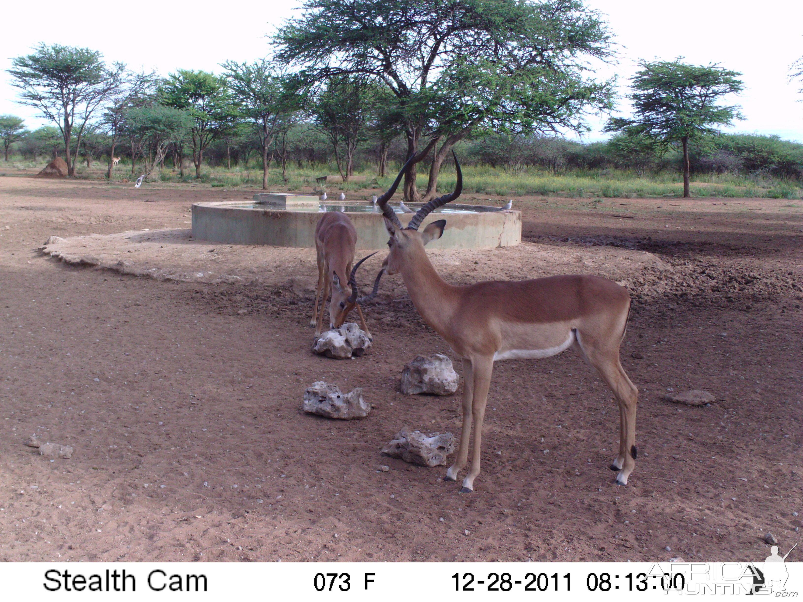
MULTIPOLYGON (((414 214, 401 213, 398 201, 390 205, 403 226, 414 214)), ((417 210, 420 205, 410 205, 417 210)), ((369 201, 326 201, 281 193, 255 194, 254 202, 218 201, 192 205, 193 237, 240 245, 315 247, 315 226, 324 211, 342 211, 357 228, 357 248, 385 249, 388 233, 379 209, 369 201)), ((521 213, 496 207, 449 203, 426 217, 428 223, 446 219, 442 238, 432 249, 495 249, 521 242, 521 213)))

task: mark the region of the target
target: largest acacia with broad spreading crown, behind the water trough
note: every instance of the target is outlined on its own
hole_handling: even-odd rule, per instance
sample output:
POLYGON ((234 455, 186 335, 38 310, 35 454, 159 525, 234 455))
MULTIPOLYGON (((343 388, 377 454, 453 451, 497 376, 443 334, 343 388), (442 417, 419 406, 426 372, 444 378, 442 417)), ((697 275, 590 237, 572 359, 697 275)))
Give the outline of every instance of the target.
MULTIPOLYGON (((307 0, 274 43, 309 87, 361 75, 389 90, 414 164, 440 143, 424 200, 466 136, 580 131, 586 110, 611 107, 612 82, 585 78, 587 59, 612 54, 609 31, 581 0, 307 0)), ((418 200, 415 171, 409 200, 418 200)))

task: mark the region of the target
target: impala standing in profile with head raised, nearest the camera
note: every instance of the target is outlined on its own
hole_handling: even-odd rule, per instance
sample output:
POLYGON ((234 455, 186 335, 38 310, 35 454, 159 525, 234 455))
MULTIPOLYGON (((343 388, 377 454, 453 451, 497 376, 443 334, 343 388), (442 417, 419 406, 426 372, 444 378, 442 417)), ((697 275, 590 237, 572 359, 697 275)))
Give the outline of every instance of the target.
POLYGON ((457 157, 454 163, 458 176, 454 192, 422 206, 406 228, 389 208, 389 195, 377 202, 390 234, 390 252, 383 269, 388 274, 402 275, 418 313, 463 358, 463 430, 456 461, 446 470, 446 480, 456 481, 467 464, 473 419, 471 470, 463 479, 461 491, 467 493, 474 488, 494 362, 554 356, 573 347, 597 368, 618 402, 619 454, 610 468, 618 471, 616 482, 626 485, 635 466, 638 398, 638 389, 619 363, 630 296, 617 283, 590 275, 491 281, 462 287, 444 282, 427 258, 424 246, 441 237, 446 220, 432 222, 421 232, 418 226, 433 209, 459 197, 463 174, 457 157))

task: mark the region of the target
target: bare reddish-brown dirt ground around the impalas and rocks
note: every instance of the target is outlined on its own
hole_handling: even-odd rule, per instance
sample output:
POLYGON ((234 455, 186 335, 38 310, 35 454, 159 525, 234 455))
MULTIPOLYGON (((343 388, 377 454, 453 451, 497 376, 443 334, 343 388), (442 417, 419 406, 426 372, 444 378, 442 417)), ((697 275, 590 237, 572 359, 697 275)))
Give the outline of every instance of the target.
POLYGON ((430 253, 452 283, 582 272, 634 299, 628 485, 613 397, 569 351, 495 364, 459 494, 446 466, 380 454, 405 425, 459 433, 460 390, 399 393, 415 356, 461 370, 399 276, 365 311, 372 351, 331 360, 310 352, 314 250, 191 237, 192 202, 252 192, 0 177, 0 560, 759 561, 768 532, 801 541, 803 201, 522 197, 520 246, 430 253), (303 413, 316 380, 372 413, 303 413), (664 399, 687 389, 716 401, 664 399))

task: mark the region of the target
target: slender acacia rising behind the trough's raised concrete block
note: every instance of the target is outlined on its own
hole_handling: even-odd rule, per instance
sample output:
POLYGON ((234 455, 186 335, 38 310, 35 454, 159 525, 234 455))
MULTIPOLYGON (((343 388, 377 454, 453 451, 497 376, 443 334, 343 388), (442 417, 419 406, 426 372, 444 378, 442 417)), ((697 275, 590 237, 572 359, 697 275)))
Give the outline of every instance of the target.
POLYGON ((261 59, 254 63, 227 61, 221 67, 239 112, 259 130, 262 151, 262 189, 267 190, 267 155, 274 146, 274 137, 283 123, 283 116, 295 110, 288 94, 286 76, 277 63, 261 59))

